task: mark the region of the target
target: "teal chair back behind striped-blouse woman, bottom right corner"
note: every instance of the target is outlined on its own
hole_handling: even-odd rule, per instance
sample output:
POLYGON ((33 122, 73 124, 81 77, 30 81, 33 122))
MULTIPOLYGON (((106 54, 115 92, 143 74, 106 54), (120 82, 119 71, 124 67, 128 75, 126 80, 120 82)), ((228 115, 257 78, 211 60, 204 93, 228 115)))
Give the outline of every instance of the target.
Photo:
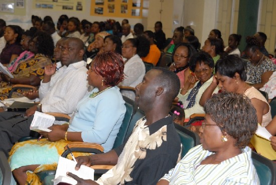
POLYGON ((276 184, 276 165, 273 161, 261 156, 260 154, 252 151, 252 160, 256 168, 261 185, 276 184))

